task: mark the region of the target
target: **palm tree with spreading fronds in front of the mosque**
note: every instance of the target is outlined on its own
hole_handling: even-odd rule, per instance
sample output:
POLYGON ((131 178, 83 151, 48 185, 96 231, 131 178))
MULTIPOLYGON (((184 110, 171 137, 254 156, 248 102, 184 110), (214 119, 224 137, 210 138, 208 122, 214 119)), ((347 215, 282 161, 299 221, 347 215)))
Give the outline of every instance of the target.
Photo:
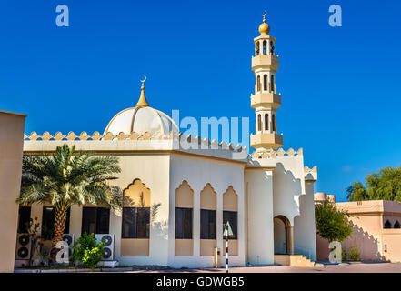
POLYGON ((120 173, 115 156, 76 152, 75 146, 57 146, 55 155, 23 157, 21 193, 16 203, 28 206, 48 202, 55 206, 52 248, 63 239, 66 213, 72 205, 94 204, 121 208, 122 196, 107 181, 120 173))

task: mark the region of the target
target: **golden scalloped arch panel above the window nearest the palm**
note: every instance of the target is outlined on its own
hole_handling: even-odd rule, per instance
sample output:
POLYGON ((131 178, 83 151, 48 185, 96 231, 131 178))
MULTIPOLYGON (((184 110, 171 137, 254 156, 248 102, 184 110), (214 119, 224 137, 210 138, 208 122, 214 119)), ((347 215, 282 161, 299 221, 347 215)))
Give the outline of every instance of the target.
POLYGON ((124 207, 150 207, 150 189, 141 179, 135 179, 128 185, 123 195, 124 207))

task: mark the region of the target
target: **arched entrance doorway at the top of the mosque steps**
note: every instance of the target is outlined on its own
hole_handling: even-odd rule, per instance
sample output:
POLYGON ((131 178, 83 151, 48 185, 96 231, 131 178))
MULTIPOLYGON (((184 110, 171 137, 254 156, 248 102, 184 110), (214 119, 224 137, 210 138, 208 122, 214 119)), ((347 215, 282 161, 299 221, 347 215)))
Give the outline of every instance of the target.
POLYGON ((273 220, 275 254, 294 254, 294 227, 286 216, 275 216, 273 220))

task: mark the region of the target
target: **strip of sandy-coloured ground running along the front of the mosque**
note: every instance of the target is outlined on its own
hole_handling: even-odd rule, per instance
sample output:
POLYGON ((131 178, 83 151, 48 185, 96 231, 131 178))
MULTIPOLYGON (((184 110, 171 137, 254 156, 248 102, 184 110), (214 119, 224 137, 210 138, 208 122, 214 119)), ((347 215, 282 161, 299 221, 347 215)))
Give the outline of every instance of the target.
MULTIPOLYGON (((137 270, 125 273, 225 273, 226 269, 137 270)), ((252 266, 231 267, 229 273, 401 273, 399 263, 351 263, 323 267, 252 266)))

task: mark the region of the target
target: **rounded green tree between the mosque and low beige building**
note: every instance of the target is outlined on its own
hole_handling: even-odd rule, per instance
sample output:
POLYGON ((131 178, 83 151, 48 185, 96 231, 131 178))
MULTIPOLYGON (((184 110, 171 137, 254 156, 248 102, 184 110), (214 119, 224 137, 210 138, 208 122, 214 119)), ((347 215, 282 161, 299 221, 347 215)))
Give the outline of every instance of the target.
POLYGON ((317 234, 329 242, 342 242, 352 233, 346 212, 336 209, 336 206, 329 201, 316 204, 315 219, 317 234))

